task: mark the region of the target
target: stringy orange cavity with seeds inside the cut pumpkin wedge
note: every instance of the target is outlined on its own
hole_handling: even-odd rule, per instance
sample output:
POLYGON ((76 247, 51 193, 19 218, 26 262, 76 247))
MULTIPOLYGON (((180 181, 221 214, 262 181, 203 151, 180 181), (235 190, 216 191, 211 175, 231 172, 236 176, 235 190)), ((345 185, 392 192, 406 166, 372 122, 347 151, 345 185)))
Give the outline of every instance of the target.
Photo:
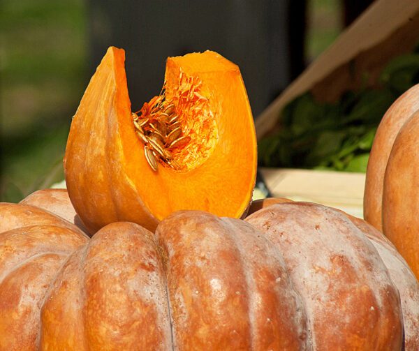
POLYGON ((218 142, 215 113, 198 77, 181 70, 177 86, 166 91, 166 85, 159 96, 132 112, 135 133, 152 170, 161 164, 186 172, 204 163, 218 142))

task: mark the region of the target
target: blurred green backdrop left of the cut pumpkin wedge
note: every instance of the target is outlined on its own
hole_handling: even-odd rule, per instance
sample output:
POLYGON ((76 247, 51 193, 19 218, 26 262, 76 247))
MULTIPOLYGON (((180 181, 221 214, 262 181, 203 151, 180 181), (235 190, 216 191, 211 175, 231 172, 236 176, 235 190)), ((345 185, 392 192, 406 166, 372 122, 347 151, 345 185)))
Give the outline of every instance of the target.
POLYGON ((82 0, 3 0, 0 201, 64 178, 71 116, 87 84, 82 0))

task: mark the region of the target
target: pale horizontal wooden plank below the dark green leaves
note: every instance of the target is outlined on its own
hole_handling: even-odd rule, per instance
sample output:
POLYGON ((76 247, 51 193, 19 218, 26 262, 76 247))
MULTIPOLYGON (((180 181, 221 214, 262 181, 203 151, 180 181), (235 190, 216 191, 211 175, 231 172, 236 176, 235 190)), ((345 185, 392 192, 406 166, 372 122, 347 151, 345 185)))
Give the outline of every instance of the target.
POLYGON ((365 174, 285 168, 261 168, 274 197, 316 202, 362 218, 365 174))

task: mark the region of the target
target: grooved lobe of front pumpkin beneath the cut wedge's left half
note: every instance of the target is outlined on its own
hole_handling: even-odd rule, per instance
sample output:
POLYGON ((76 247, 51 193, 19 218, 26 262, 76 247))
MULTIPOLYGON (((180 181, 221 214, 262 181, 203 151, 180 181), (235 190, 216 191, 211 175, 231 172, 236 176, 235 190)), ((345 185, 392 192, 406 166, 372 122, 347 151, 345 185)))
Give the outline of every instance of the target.
POLYGON ((104 227, 52 285, 41 349, 170 350, 164 287, 152 233, 133 223, 104 227))

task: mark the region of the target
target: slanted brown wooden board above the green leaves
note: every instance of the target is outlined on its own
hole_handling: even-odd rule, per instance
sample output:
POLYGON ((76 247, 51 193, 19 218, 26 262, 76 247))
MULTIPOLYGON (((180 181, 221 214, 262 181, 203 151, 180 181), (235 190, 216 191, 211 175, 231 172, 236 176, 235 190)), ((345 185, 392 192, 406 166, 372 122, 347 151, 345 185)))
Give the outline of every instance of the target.
MULTIPOLYGON (((404 34, 406 36, 409 34, 409 37, 413 39, 416 38, 419 33, 419 26, 416 25, 418 16, 418 0, 376 0, 358 20, 337 38, 328 50, 325 50, 259 115, 256 119, 258 139, 266 135, 277 124, 280 111, 286 103, 305 91, 309 91, 315 84, 332 75, 345 64, 349 64, 358 55, 367 52, 371 47, 377 47, 377 45, 379 50, 379 44, 391 38, 395 33, 397 35, 394 39, 398 40, 397 43, 402 44, 399 40, 399 29, 402 27, 407 26, 406 30, 408 31, 402 33, 402 38, 404 38, 404 34)), ((392 43, 392 47, 397 47, 397 43, 392 43)), ((379 56, 380 52, 376 54, 379 56)), ((337 80, 339 77, 335 83, 337 80)))

